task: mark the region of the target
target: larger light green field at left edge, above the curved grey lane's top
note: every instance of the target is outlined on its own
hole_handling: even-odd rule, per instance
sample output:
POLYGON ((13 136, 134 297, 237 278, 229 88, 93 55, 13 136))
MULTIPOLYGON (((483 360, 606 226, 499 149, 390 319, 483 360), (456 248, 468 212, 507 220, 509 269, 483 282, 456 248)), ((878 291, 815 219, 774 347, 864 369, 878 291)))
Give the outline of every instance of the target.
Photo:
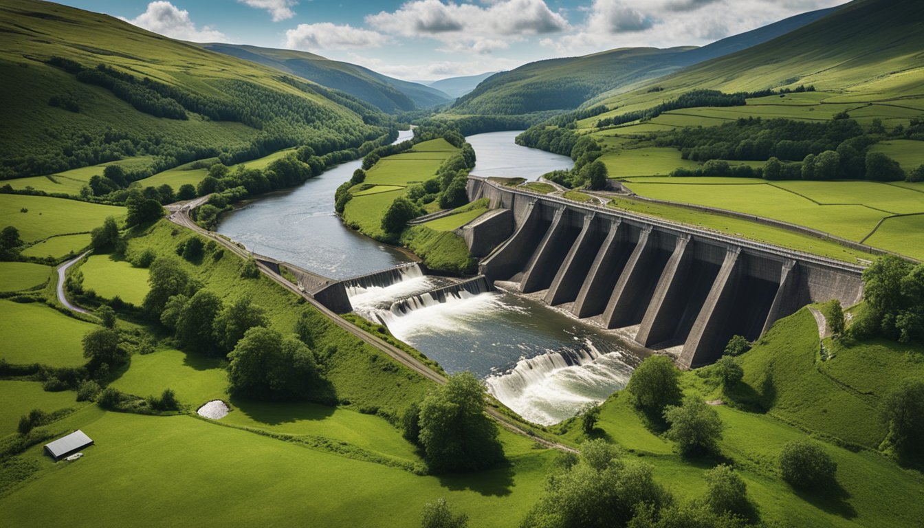
POLYGON ((0 194, 0 226, 13 226, 29 243, 55 235, 88 233, 103 225, 106 216, 121 219, 125 207, 78 202, 64 198, 0 194), (23 213, 25 209, 27 212, 23 213))

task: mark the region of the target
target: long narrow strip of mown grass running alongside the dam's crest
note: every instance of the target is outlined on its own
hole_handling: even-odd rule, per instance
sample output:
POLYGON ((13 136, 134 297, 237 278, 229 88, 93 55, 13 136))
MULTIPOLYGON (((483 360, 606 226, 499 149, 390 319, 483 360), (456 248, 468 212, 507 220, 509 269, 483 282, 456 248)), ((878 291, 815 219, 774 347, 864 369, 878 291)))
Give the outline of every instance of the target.
POLYGON ((683 207, 640 202, 626 198, 614 199, 609 206, 616 209, 625 209, 632 213, 657 216, 690 226, 704 227, 727 235, 759 242, 769 242, 796 251, 813 253, 851 263, 856 263, 858 260, 866 261, 870 258, 867 252, 859 252, 830 240, 809 237, 782 227, 765 226, 741 218, 701 213, 683 207))

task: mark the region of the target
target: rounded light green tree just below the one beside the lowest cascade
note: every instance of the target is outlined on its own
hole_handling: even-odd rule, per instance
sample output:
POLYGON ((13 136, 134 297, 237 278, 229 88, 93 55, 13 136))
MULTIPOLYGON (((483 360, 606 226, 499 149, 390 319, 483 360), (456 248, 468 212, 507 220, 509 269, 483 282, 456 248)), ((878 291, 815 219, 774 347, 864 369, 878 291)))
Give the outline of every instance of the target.
POLYGON ((664 436, 674 440, 685 455, 715 451, 722 438, 719 413, 699 398, 687 396, 682 405, 665 407, 664 421, 671 425, 664 436))

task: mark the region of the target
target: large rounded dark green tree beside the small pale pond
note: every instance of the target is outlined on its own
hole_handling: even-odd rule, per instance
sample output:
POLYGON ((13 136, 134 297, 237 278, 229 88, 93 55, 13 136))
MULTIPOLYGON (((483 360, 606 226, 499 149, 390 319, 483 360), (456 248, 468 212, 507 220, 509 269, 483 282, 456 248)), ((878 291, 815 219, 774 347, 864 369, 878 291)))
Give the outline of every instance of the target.
POLYGON ((302 399, 317 378, 314 355, 295 336, 255 326, 228 354, 233 393, 254 399, 302 399))

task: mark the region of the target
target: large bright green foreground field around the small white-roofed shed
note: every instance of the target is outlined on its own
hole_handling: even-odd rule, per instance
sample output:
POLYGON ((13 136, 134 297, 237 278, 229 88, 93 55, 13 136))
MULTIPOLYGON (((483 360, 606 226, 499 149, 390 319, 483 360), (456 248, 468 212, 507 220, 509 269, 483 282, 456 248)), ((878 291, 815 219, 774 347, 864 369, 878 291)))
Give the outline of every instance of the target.
POLYGON ((40 465, 40 473, 14 494, 0 497, 7 520, 98 526, 419 526, 423 504, 446 497, 468 513, 473 525, 513 527, 541 493, 542 474, 554 456, 533 449, 528 439, 502 433, 510 467, 433 477, 189 416, 140 416, 91 407, 55 424, 61 431, 78 427, 96 445, 85 449, 84 460, 66 472, 54 471, 41 446, 27 451, 25 457, 40 465), (145 456, 138 456, 140 452, 145 456), (170 485, 154 486, 150 500, 123 507, 125 495, 137 483, 155 482, 164 474, 176 478, 170 485), (49 495, 60 497, 57 508, 34 508, 38 497, 49 495), (164 504, 170 507, 164 509, 164 504), (505 515, 497 516, 499 509, 505 515))

